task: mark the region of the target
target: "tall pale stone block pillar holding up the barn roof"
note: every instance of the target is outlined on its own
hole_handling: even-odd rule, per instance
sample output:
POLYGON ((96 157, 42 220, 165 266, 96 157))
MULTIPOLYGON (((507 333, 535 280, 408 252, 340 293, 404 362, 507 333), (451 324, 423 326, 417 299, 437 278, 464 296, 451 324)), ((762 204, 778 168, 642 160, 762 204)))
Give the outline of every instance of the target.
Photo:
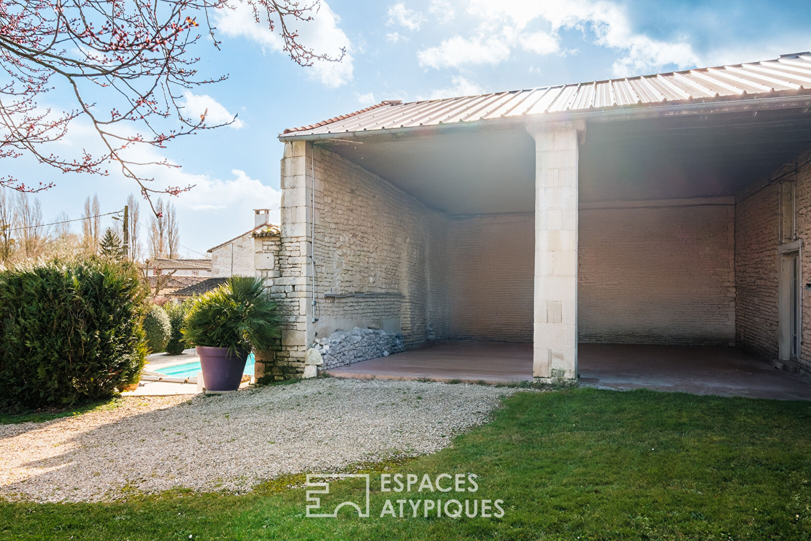
POLYGON ((582 122, 527 122, 535 140, 533 376, 577 377, 577 147, 582 122))

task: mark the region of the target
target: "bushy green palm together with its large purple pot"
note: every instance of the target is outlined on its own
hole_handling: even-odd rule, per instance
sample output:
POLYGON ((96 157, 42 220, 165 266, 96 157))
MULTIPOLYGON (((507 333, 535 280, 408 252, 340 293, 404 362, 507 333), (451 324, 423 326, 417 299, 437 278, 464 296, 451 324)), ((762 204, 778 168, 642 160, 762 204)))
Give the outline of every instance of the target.
POLYGON ((230 277, 187 303, 181 333, 200 356, 206 389, 238 389, 251 349, 267 350, 281 337, 277 303, 269 298, 264 281, 230 277))

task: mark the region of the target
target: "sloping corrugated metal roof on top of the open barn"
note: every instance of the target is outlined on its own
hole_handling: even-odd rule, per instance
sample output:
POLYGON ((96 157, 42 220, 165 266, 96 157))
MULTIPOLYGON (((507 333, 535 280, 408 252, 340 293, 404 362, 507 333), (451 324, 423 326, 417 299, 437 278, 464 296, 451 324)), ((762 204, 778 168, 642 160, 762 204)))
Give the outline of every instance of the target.
POLYGON ((354 113, 285 130, 281 136, 436 126, 530 114, 661 105, 672 101, 689 103, 707 98, 737 98, 785 90, 809 90, 811 94, 811 53, 784 54, 775 60, 763 62, 478 96, 410 103, 383 101, 354 113))

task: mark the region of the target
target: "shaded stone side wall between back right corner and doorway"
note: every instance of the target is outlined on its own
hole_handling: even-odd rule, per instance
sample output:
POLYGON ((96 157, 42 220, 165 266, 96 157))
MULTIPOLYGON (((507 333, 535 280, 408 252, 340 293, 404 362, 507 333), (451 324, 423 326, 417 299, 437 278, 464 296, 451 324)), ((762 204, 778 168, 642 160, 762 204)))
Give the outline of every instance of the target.
POLYGON ((777 359, 779 246, 778 186, 736 197, 736 341, 777 359))

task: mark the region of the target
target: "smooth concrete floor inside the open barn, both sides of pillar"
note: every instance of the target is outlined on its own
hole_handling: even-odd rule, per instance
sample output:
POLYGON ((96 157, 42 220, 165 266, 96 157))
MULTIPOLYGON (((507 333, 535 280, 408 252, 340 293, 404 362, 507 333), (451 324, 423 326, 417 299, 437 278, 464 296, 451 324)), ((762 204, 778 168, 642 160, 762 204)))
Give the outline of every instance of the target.
MULTIPOLYGON (((811 400, 811 382, 730 347, 581 344, 580 384, 778 400, 811 400)), ((532 380, 532 344, 432 342, 416 350, 333 368, 337 377, 384 380, 532 380)))

